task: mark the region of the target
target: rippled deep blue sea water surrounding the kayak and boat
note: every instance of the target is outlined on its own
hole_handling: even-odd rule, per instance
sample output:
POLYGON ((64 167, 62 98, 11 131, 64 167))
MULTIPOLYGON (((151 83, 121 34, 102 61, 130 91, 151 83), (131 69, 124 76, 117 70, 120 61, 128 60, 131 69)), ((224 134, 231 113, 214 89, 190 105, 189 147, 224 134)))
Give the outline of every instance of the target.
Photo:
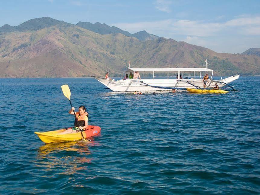
POLYGON ((0 193, 259 194, 260 77, 227 94, 114 93, 92 78, 0 79, 0 193), (34 131, 73 125, 90 141, 44 144, 34 131))

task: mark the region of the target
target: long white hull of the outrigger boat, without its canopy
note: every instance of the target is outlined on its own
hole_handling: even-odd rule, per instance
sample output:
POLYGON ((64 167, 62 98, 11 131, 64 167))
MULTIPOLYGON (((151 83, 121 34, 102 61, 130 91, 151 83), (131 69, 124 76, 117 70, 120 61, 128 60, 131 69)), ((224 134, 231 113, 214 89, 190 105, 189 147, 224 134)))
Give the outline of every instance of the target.
MULTIPOLYGON (((126 80, 110 80, 104 79, 97 76, 92 76, 104 86, 108 87, 115 92, 128 92, 128 91, 162 91, 171 90, 169 88, 176 89, 197 89, 195 86, 203 88, 202 79, 126 79, 126 80), (194 85, 194 86, 193 86, 194 85), (162 88, 160 88, 162 87, 162 88), (163 89, 163 87, 166 87, 163 89), (167 89, 168 87, 168 89, 167 89)), ((219 87, 225 86, 224 83, 228 84, 239 78, 239 75, 230 76, 226 79, 218 80, 219 87), (224 83, 223 83, 224 82, 224 83)), ((209 80, 206 84, 206 88, 215 87, 216 81, 209 80)))

